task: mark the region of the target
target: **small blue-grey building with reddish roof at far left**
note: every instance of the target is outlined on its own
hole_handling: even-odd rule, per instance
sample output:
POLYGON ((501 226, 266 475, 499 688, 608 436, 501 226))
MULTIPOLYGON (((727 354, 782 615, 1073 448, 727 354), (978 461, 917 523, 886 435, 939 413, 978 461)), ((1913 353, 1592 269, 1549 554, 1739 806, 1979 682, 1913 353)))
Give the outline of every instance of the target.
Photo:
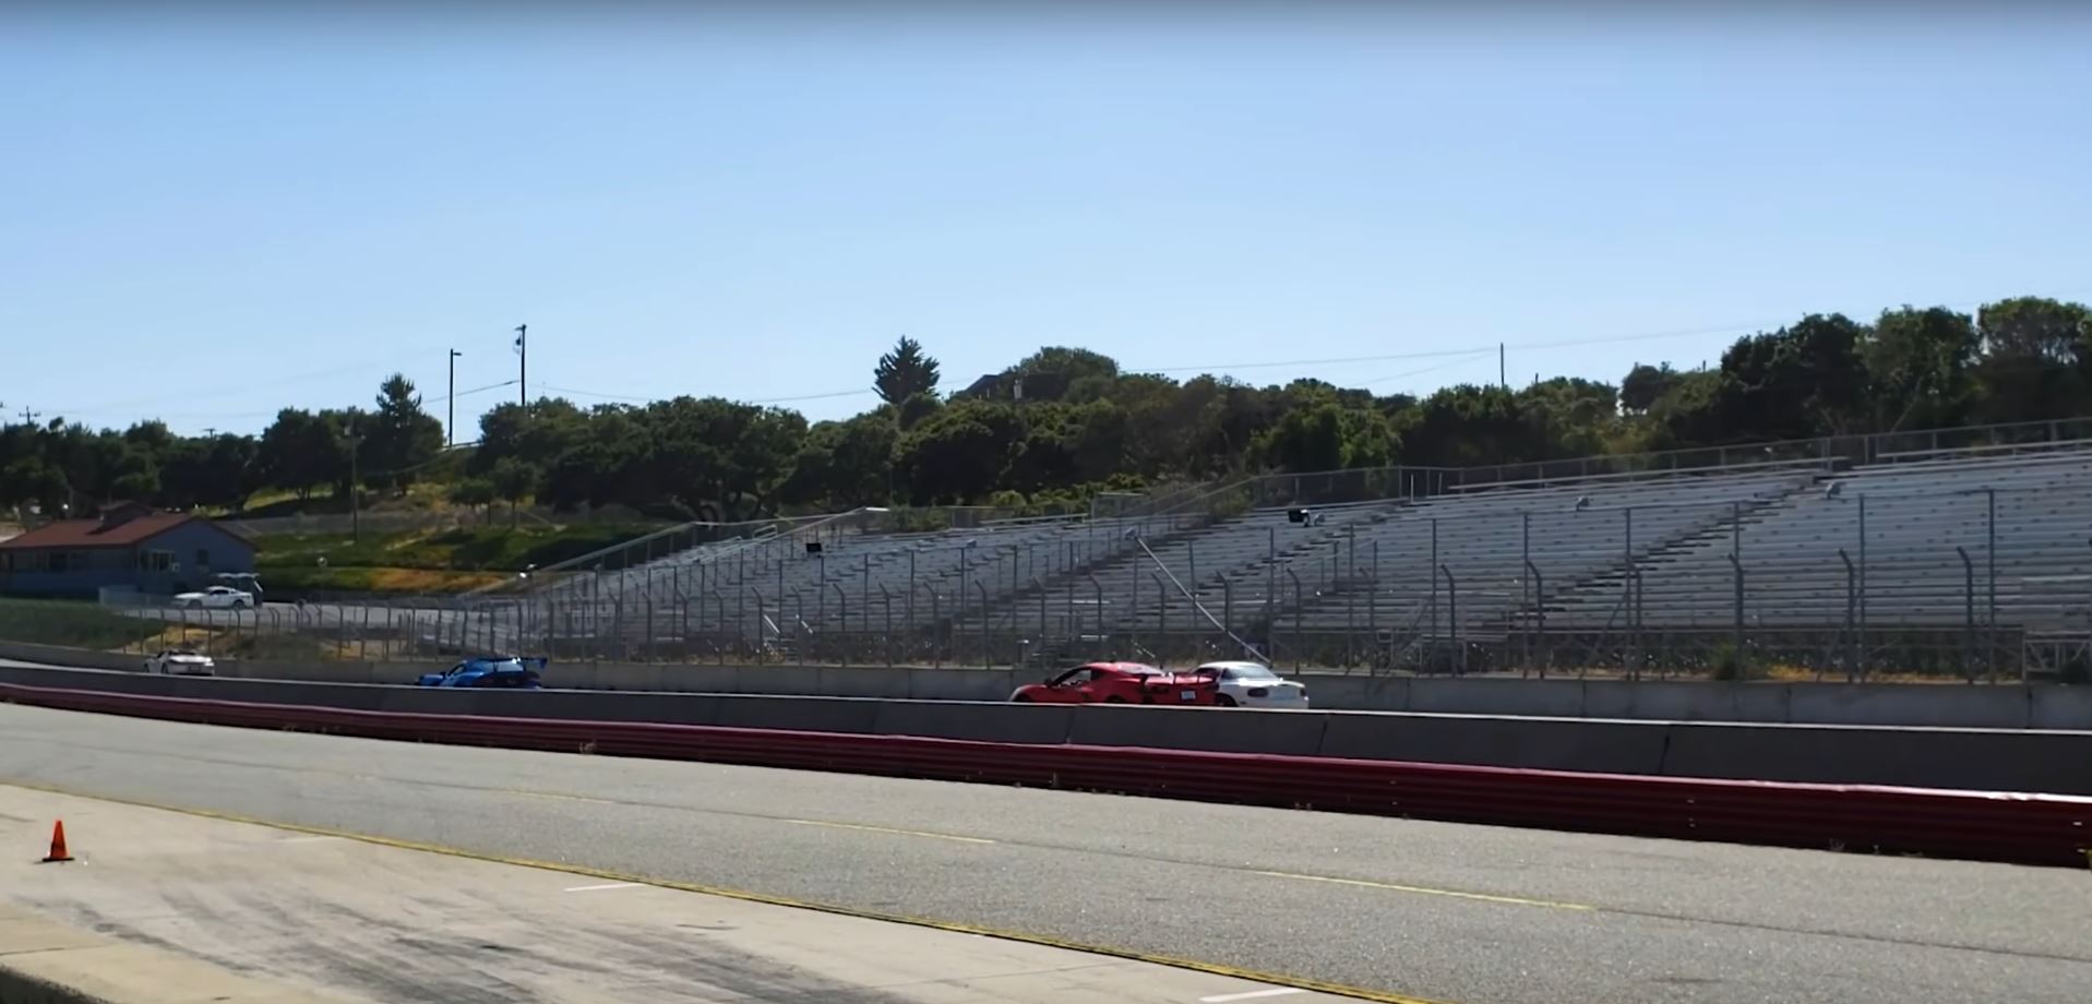
POLYGON ((0 592, 100 596, 105 590, 169 596, 253 573, 255 546, 186 512, 113 506, 98 519, 61 519, 0 540, 0 592))

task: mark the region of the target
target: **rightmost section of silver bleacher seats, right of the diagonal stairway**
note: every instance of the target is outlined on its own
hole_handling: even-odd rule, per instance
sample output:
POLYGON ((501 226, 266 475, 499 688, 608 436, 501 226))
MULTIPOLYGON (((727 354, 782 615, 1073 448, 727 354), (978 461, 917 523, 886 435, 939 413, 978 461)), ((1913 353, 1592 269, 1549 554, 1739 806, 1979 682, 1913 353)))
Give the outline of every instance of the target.
MULTIPOLYGON (((1745 575, 1747 625, 1837 628, 1847 617, 1879 628, 1989 625, 1996 581, 2000 625, 2084 628, 2092 596, 2092 452, 1943 456, 1826 475, 1745 515, 1734 540, 1718 535, 1644 554, 1640 623, 1730 625, 1732 552, 1745 575)), ((1617 581, 1571 590, 1559 596, 1548 623, 1605 623, 1619 592, 1617 581)))

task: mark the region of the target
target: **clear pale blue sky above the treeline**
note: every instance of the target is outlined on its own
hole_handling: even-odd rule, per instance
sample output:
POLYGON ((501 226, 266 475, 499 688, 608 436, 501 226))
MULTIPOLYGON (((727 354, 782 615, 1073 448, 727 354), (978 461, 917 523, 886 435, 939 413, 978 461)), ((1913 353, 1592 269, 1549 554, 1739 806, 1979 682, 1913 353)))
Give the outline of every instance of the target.
POLYGON ((860 391, 904 333, 946 389, 1044 343, 1483 349, 1222 370, 1423 393, 1500 341, 1617 381, 1812 310, 2092 297, 2061 4, 73 6, 0 10, 0 402, 94 425, 391 370, 441 416, 446 349, 513 379, 519 322, 533 393, 634 400, 860 391))

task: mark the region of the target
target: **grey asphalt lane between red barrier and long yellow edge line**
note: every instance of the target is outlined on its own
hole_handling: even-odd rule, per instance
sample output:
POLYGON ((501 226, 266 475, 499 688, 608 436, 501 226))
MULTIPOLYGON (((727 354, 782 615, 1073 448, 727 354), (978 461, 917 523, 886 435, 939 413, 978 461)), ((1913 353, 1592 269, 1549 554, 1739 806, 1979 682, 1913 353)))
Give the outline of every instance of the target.
POLYGON ((0 782, 1435 1002, 2084 1002, 2092 874, 0 705, 0 782))

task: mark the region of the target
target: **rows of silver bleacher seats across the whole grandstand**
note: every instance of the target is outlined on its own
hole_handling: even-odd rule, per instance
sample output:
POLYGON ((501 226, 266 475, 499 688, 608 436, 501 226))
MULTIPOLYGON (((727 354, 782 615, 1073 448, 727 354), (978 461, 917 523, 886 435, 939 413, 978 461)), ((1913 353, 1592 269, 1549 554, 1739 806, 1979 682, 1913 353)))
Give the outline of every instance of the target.
POLYGON ((1218 521, 789 529, 575 575, 538 596, 569 621, 586 617, 579 632, 602 632, 611 604, 617 634, 646 638, 791 648, 891 628, 994 638, 998 651, 1036 644, 1031 657, 1052 659, 1075 644, 1125 655, 1128 638, 1220 638, 1222 625, 1362 644, 1605 634, 1628 619, 1718 630, 1734 623, 1738 554, 1753 628, 1989 625, 1996 602, 2000 628, 2084 632, 2092 450, 2061 446, 1847 471, 1826 456, 1460 485, 1310 506, 1308 519, 1268 506, 1218 521), (1862 584, 1849 609, 1847 588, 1858 596, 1862 584))

